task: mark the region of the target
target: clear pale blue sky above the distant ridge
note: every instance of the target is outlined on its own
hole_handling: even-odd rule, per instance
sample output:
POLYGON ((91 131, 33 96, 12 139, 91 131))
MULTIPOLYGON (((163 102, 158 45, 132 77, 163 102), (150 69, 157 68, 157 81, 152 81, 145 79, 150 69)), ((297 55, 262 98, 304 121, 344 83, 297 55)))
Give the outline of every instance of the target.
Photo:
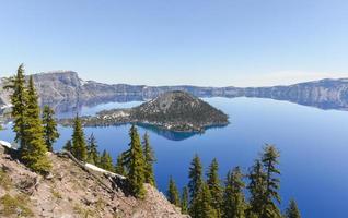
POLYGON ((346 0, 0 0, 0 74, 149 85, 348 77, 346 0))

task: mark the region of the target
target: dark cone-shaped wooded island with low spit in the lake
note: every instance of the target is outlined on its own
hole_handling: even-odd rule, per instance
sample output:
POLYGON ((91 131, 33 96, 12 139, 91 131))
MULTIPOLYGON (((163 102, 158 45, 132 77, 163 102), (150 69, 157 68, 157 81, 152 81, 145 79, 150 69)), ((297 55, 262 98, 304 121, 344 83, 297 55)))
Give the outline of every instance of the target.
MULTIPOLYGON (((204 132, 211 126, 229 124, 229 117, 208 102, 182 90, 167 92, 127 109, 103 110, 81 117, 84 126, 108 126, 126 123, 154 125, 174 132, 204 132)), ((61 119, 71 125, 72 119, 61 119)))

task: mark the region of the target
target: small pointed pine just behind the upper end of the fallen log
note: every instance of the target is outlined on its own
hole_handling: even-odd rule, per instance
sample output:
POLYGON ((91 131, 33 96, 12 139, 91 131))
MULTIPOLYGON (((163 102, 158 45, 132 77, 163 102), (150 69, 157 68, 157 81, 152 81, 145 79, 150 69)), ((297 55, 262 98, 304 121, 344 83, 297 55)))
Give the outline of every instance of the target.
POLYGON ((84 140, 84 133, 82 129, 82 123, 77 114, 73 121, 73 133, 72 133, 72 155, 79 160, 85 161, 86 159, 86 146, 84 140))

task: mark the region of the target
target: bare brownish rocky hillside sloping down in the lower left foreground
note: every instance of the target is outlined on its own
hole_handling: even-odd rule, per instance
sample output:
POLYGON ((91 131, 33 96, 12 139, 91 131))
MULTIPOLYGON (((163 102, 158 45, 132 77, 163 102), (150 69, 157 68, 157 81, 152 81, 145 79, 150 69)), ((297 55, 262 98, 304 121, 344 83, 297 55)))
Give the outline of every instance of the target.
POLYGON ((0 145, 0 217, 184 218, 156 189, 143 201, 127 195, 121 182, 67 155, 49 154, 51 175, 30 171, 0 145))

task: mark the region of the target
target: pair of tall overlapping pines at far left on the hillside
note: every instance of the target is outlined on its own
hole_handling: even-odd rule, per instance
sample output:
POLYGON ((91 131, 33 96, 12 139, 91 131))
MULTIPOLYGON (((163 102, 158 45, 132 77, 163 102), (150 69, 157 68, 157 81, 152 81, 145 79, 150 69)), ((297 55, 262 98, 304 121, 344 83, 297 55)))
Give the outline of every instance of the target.
POLYGON ((23 64, 19 66, 16 75, 10 78, 7 88, 13 92, 10 96, 13 105, 11 116, 15 142, 20 144, 20 157, 33 171, 47 173, 51 164, 46 155, 38 96, 32 76, 26 86, 23 64))

